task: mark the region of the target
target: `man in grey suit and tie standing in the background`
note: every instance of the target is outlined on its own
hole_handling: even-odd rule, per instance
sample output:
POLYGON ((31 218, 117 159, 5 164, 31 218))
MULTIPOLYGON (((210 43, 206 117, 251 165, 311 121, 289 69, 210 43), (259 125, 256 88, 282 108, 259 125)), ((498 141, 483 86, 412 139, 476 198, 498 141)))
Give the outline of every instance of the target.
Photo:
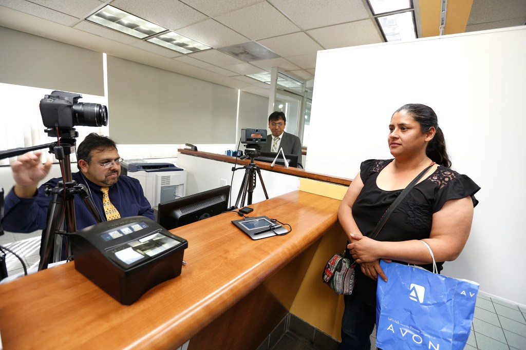
POLYGON ((266 152, 278 152, 283 148, 286 155, 298 156, 298 167, 301 164, 301 140, 296 135, 285 132, 287 125, 284 112, 272 112, 268 117, 268 128, 272 132, 272 137, 267 137, 267 143, 262 145, 261 150, 266 152))

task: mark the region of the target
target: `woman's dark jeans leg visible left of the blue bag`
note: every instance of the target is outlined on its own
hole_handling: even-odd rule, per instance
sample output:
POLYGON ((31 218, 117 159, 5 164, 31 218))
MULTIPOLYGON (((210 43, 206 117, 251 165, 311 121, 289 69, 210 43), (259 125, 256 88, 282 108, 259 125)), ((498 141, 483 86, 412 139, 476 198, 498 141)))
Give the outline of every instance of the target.
POLYGON ((341 320, 339 350, 370 350, 370 335, 375 329, 376 307, 361 302, 353 295, 344 295, 345 310, 341 320))

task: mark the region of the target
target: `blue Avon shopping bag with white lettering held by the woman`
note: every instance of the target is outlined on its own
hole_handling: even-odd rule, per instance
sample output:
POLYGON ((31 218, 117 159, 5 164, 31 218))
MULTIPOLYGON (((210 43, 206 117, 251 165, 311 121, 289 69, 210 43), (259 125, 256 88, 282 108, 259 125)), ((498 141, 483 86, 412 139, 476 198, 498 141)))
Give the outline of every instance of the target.
MULTIPOLYGON (((433 258, 434 262, 434 258, 433 258)), ((463 349, 468 341, 479 285, 380 261, 376 346, 383 349, 463 349)))

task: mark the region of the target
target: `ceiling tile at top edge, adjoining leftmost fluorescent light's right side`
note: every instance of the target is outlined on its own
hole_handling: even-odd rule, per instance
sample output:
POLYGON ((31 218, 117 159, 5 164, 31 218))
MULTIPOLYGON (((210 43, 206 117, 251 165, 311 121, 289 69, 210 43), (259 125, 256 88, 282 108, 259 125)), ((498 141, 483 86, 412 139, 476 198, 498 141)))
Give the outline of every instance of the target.
POLYGON ((177 30, 208 18, 176 0, 156 0, 155 6, 150 1, 144 0, 115 0, 111 5, 171 30, 177 30))

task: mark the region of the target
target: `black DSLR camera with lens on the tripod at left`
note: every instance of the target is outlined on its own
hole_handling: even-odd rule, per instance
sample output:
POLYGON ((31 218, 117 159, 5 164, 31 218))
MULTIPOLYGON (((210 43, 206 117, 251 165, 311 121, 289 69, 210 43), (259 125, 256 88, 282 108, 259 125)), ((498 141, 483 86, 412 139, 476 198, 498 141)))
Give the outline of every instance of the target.
POLYGON ((78 102, 82 95, 53 91, 40 100, 42 121, 47 128, 72 129, 108 125, 108 109, 100 104, 78 102))

